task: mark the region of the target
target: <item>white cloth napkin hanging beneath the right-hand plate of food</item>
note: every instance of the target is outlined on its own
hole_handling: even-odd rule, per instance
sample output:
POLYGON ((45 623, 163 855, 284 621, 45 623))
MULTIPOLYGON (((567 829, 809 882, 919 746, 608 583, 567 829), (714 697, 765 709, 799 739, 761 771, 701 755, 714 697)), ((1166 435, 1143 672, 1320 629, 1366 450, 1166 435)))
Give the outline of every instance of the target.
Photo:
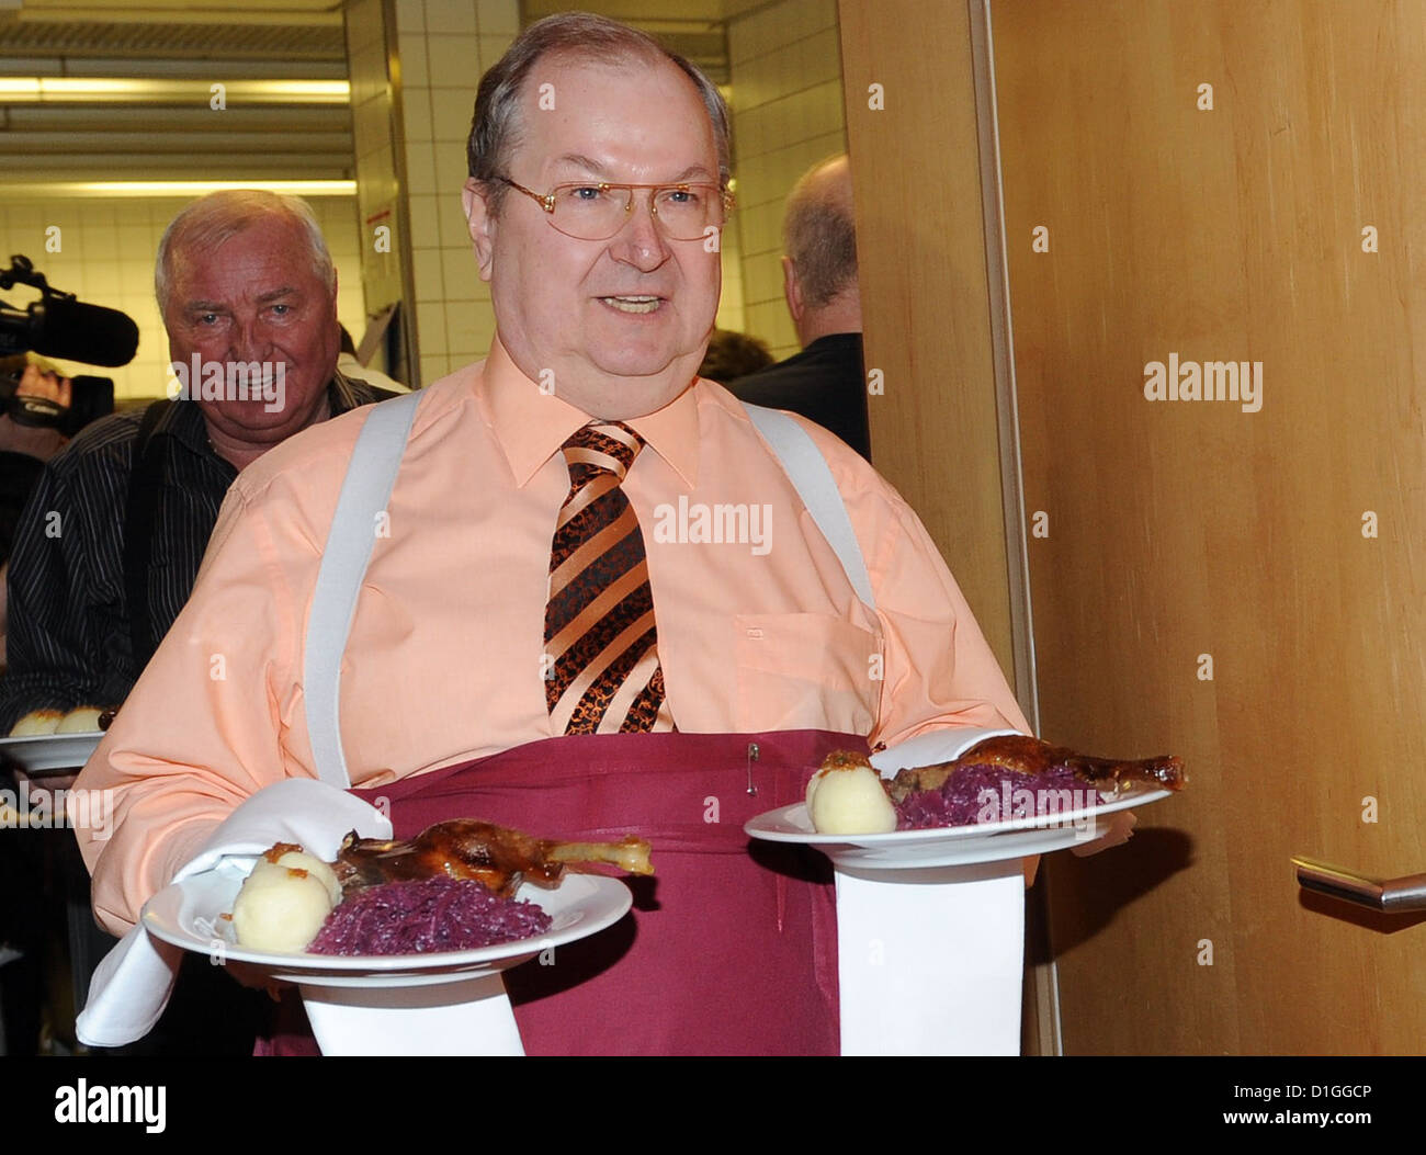
MULTIPOLYGON (((871 757, 883 777, 1018 730, 938 730, 871 757)), ((1018 857, 836 867, 844 1055, 1020 1052, 1025 880, 1018 857)))

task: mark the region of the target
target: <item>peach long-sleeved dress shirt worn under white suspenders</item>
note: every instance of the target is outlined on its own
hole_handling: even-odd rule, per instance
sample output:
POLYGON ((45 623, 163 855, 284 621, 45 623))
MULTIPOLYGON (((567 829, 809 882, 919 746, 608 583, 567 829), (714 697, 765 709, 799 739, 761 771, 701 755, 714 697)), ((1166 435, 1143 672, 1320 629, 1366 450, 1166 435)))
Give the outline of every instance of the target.
MULTIPOLYGON (((302 639, 364 416, 307 429, 242 471, 188 605, 77 783, 114 791, 111 836, 77 831, 96 914, 114 933, 244 799, 317 777, 302 639)), ((543 630, 569 492, 560 443, 588 421, 499 339, 486 361, 424 391, 342 662, 354 786, 552 736, 543 630)), ((625 492, 679 730, 836 730, 886 744, 938 727, 1027 730, 920 520, 854 451, 803 422, 846 500, 876 612, 732 394, 699 379, 627 423, 647 442, 625 492), (760 542, 692 540, 700 506, 726 503, 759 506, 760 542)))

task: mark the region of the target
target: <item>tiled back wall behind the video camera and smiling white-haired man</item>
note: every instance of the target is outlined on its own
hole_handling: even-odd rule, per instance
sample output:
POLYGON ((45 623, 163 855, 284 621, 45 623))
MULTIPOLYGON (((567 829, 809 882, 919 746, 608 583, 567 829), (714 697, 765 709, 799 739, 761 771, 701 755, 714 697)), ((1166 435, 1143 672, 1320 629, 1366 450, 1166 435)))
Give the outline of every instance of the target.
MULTIPOLYGON (((118 369, 61 361, 71 372, 111 376, 120 398, 161 396, 167 382, 168 338, 154 302, 154 258, 168 221, 188 201, 181 197, 124 200, 47 200, 0 204, 0 254, 29 257, 50 281, 84 304, 121 309, 138 325, 138 354, 118 369), (58 227, 58 252, 46 251, 46 230, 58 227)), ((361 341, 366 325, 358 257, 356 204, 351 197, 309 201, 337 264, 337 315, 361 341)), ((16 287, 4 294, 24 307, 37 294, 16 287)))

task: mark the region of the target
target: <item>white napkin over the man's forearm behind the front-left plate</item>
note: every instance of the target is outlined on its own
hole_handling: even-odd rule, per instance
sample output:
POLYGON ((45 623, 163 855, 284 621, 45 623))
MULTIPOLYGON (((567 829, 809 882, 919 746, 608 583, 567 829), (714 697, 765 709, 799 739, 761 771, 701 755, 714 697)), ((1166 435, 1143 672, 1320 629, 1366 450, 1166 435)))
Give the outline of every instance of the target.
MULTIPOLYGON (((251 870, 274 843, 298 843, 328 861, 342 837, 389 838, 391 821, 372 806, 312 779, 287 779, 260 790, 212 831, 174 881, 220 863, 251 870)), ((134 927, 94 971, 76 1034, 88 1047, 123 1047, 147 1035, 173 991, 183 950, 134 927)))

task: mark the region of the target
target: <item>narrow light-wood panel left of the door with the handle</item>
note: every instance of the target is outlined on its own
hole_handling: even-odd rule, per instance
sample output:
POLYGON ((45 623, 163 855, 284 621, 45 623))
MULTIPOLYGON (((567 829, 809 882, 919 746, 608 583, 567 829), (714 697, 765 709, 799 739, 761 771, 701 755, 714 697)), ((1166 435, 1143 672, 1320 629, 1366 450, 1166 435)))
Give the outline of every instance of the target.
MULTIPOLYGON (((1034 722, 1020 468, 984 13, 841 0, 877 468, 921 516, 1034 722)), ((1030 895, 1022 1047, 1057 1048, 1030 895)))

